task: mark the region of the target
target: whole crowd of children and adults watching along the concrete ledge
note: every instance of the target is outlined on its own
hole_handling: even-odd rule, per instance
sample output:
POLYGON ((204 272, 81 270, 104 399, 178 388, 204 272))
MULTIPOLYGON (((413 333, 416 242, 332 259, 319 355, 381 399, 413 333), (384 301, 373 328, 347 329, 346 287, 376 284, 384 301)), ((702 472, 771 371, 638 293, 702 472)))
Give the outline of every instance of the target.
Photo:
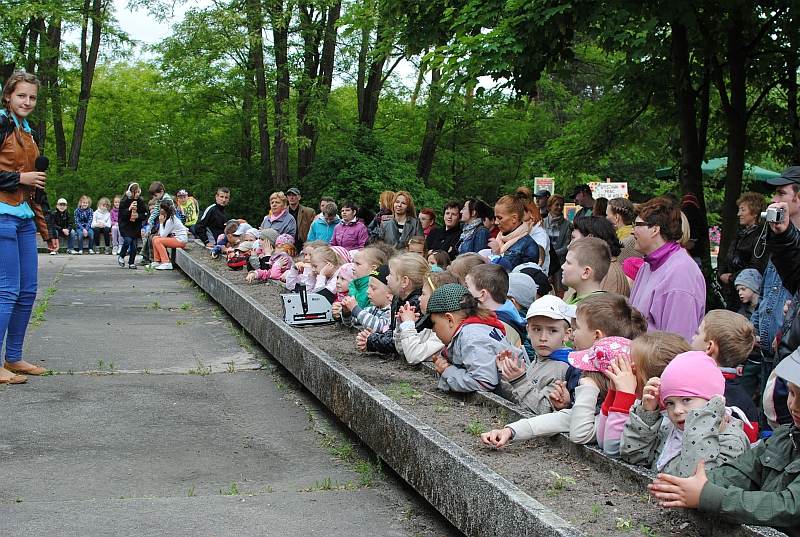
POLYGON ((475 200, 449 203, 447 233, 428 229, 432 211, 422 228, 408 192, 382 196, 385 207, 374 220, 362 220, 351 202, 340 204, 339 219, 332 200, 316 213, 299 205, 298 189, 277 192, 258 228, 227 218, 227 189, 202 213, 196 203, 186 205, 185 191, 173 200, 154 183, 149 192, 151 207, 132 183, 95 211, 82 196, 72 215, 61 199, 50 217, 53 236, 66 239, 70 253, 116 253, 120 266, 127 254, 131 268, 144 239, 153 266, 169 269, 166 248, 184 247, 191 232, 212 258, 246 269, 249 283, 325 297, 335 322, 353 329, 358 351, 430 362, 439 389, 494 392, 533 414, 483 434, 487 446, 564 433, 658 472, 650 492, 666 507, 800 529, 793 518, 800 514, 800 351, 770 377, 787 387, 788 409, 776 410, 783 400, 742 375, 764 345, 749 321, 761 275, 736 275, 738 313, 712 310, 698 319, 697 282, 682 288, 681 275, 668 273, 680 266, 693 279, 699 270, 687 268, 677 240, 677 201, 642 205, 625 220, 632 233, 624 236, 634 240, 624 245, 613 220, 583 216, 562 256, 550 248, 525 189, 497 201, 494 222, 476 220, 475 200), (463 227, 455 226, 462 205, 463 227), (417 226, 419 236, 408 233, 417 226), (464 251, 483 228, 481 249, 464 251), (444 244, 445 235, 452 244, 444 244), (426 250, 433 243, 441 248, 426 250), (620 263, 624 248, 629 257, 620 263), (631 254, 636 250, 645 255, 631 254), (657 288, 670 299, 652 294, 657 288))

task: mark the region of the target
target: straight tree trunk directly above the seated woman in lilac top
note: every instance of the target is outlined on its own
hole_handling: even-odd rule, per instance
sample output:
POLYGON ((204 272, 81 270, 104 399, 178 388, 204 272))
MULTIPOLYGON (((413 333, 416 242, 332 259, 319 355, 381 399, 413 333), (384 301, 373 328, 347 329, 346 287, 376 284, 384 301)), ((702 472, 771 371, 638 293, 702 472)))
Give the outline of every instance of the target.
POLYGON ((289 184, 289 20, 283 0, 273 0, 272 39, 275 50, 275 186, 289 184))

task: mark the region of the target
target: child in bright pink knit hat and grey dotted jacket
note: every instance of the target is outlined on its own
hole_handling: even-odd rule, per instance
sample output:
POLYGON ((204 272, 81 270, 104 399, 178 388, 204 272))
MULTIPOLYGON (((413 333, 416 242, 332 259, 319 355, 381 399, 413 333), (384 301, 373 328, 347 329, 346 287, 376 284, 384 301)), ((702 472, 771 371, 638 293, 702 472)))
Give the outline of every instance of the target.
POLYGON ((713 468, 738 457, 750 442, 742 421, 725 408, 724 393, 714 360, 700 351, 679 354, 661 378, 647 381, 633 405, 622 431, 622 460, 688 477, 701 459, 713 468))

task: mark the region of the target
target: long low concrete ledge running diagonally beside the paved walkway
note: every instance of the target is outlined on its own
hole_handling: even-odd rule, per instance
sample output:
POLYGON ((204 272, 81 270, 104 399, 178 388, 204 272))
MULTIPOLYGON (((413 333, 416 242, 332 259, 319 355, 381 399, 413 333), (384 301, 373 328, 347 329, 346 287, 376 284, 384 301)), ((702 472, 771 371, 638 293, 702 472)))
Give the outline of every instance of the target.
POLYGON ((183 250, 177 265, 381 459, 467 535, 582 535, 183 250))

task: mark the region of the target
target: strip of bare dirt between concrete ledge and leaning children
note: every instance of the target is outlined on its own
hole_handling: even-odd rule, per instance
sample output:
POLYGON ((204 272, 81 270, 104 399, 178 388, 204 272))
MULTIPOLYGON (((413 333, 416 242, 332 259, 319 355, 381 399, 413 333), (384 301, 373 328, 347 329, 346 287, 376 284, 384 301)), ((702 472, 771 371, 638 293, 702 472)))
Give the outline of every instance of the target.
MULTIPOLYGON (((211 261, 204 253, 194 249, 191 255, 204 260, 220 276, 281 316, 279 295, 286 292, 282 286, 247 284, 244 272, 231 271, 222 261, 211 261)), ((512 443, 502 450, 483 446, 481 432, 509 421, 505 409, 439 391, 435 377, 421 366, 410 366, 394 357, 359 353, 355 349, 356 331, 341 324, 301 330, 312 340, 324 341, 325 351, 333 358, 586 535, 704 534, 679 511, 664 510, 652 503, 643 488, 621 481, 604 468, 571 458, 550 440, 512 443)))

